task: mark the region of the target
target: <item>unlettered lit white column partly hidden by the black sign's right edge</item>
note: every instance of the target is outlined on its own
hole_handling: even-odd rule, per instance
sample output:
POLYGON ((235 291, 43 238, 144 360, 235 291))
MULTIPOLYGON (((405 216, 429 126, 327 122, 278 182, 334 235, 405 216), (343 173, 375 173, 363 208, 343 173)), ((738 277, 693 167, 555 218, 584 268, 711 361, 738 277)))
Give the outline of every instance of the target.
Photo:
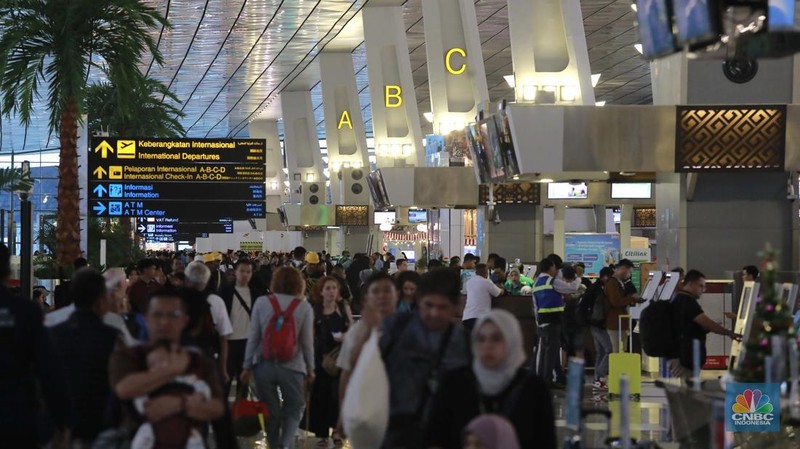
POLYGON ((248 133, 253 139, 267 141, 264 163, 266 164, 267 213, 275 210, 286 201, 286 173, 283 171, 283 155, 278 137, 278 122, 275 120, 253 120, 248 125, 248 133))

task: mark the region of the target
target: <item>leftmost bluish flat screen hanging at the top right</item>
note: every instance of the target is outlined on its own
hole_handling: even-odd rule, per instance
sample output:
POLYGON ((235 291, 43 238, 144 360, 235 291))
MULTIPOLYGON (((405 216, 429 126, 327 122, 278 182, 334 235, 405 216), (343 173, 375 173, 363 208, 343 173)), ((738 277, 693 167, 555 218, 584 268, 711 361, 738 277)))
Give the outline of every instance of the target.
POLYGON ((636 23, 645 58, 655 59, 677 51, 672 34, 672 11, 667 0, 637 0, 636 23))

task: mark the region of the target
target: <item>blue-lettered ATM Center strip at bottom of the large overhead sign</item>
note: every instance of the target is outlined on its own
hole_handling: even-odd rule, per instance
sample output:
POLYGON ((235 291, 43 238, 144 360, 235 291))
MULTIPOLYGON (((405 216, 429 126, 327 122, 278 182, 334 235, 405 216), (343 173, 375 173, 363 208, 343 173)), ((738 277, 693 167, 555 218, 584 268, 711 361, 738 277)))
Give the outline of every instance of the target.
POLYGON ((89 205, 96 217, 180 217, 180 220, 203 221, 208 217, 266 217, 264 201, 100 201, 89 205))

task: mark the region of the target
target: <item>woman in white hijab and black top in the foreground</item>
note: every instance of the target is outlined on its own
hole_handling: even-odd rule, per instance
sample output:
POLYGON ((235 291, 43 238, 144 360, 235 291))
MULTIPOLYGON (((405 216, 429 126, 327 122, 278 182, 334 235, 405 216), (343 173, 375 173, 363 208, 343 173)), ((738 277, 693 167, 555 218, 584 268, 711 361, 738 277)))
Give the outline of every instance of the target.
POLYGON ((491 413, 511 422, 520 447, 556 449, 550 392, 523 368, 519 321, 505 310, 492 310, 475 324, 472 348, 472 367, 453 371, 440 383, 429 415, 428 446, 461 448, 467 424, 491 413))

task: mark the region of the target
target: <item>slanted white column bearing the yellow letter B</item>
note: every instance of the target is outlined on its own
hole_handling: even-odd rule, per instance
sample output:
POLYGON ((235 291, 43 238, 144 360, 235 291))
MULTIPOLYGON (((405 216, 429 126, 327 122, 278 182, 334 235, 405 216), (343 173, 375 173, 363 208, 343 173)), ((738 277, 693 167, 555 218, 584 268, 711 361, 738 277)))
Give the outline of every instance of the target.
POLYGON ((378 166, 422 167, 425 150, 403 8, 366 6, 362 13, 378 166))

